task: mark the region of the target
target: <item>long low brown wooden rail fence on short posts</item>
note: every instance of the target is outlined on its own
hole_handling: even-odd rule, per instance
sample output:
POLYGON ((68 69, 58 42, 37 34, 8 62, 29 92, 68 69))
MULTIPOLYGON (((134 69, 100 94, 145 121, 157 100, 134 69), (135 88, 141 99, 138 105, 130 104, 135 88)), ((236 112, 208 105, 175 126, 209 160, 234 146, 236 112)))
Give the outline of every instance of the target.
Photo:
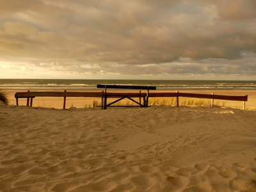
MULTIPOLYGON (((136 97, 143 98, 145 100, 145 97, 147 97, 147 93, 125 93, 125 92, 120 92, 120 93, 112 93, 108 92, 106 93, 108 98, 121 98, 121 97, 136 97)), ((103 108, 103 103, 104 103, 104 96, 105 93, 104 91, 102 92, 17 92, 15 93, 15 98, 16 98, 16 104, 19 106, 19 98, 26 98, 27 99, 27 106, 29 106, 29 100, 30 100, 30 106, 33 104, 33 98, 35 97, 63 97, 63 109, 65 109, 65 104, 66 104, 66 98, 67 97, 99 97, 101 98, 102 102, 102 108, 103 108)), ((179 107, 179 97, 191 97, 191 98, 199 98, 199 99, 211 99, 211 107, 213 107, 214 104, 214 99, 218 100, 238 100, 238 101, 243 101, 243 109, 245 109, 245 102, 248 100, 248 95, 243 95, 243 96, 234 96, 234 95, 214 95, 212 94, 200 94, 200 93, 180 93, 180 92, 170 92, 170 93, 161 93, 161 92, 152 92, 148 95, 148 97, 176 97, 177 98, 177 107, 179 107)))

